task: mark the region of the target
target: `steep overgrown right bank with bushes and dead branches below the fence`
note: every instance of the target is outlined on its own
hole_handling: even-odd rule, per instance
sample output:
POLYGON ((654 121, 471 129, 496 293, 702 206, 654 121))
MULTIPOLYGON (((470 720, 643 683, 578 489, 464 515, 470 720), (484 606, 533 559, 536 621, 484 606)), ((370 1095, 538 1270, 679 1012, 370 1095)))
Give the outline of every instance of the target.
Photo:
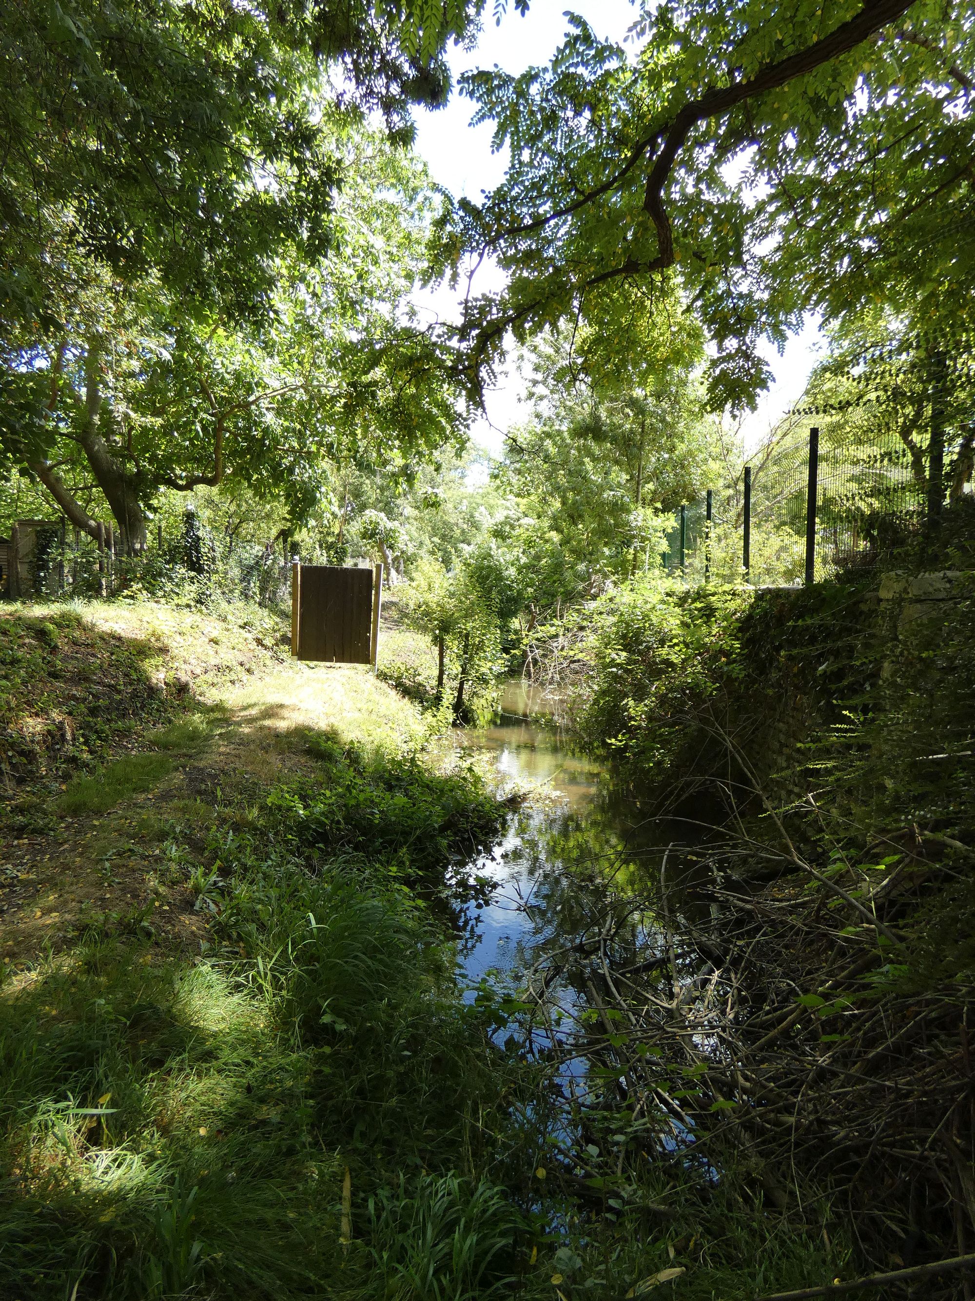
POLYGON ((975 1246, 974 597, 967 570, 647 583, 593 621, 582 726, 659 844, 602 908, 598 1051, 854 1272, 975 1246))

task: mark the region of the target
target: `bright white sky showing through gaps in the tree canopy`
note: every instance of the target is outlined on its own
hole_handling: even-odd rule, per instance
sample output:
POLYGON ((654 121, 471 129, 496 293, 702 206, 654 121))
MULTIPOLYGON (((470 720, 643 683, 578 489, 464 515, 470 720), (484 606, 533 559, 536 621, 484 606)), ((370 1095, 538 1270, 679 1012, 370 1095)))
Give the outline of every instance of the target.
MULTIPOLYGON (((623 42, 636 18, 629 0, 575 0, 572 12, 589 22, 598 36, 623 42)), ((525 68, 547 64, 566 33, 564 0, 533 0, 523 17, 508 4, 508 12, 495 26, 485 20, 484 31, 473 51, 452 49, 450 65, 456 83, 459 75, 473 68, 498 65, 508 73, 521 73, 525 68)), ((416 150, 425 159, 434 181, 455 196, 480 199, 482 190, 491 190, 504 176, 506 152, 491 151, 491 125, 471 126, 473 105, 454 94, 441 109, 417 112, 416 150)), ((477 273, 474 289, 486 291, 503 284, 497 265, 485 265, 477 273)), ((416 301, 421 312, 456 319, 456 295, 439 289, 416 301)), ((776 419, 786 411, 806 386, 809 372, 815 363, 818 328, 806 328, 789 340, 780 356, 770 343, 762 351, 768 362, 775 382, 762 397, 754 414, 745 418, 741 433, 748 450, 757 448, 776 419)), ((473 427, 474 441, 498 455, 507 429, 526 416, 523 403, 524 381, 508 367, 499 376, 495 389, 486 394, 486 418, 473 427)))

